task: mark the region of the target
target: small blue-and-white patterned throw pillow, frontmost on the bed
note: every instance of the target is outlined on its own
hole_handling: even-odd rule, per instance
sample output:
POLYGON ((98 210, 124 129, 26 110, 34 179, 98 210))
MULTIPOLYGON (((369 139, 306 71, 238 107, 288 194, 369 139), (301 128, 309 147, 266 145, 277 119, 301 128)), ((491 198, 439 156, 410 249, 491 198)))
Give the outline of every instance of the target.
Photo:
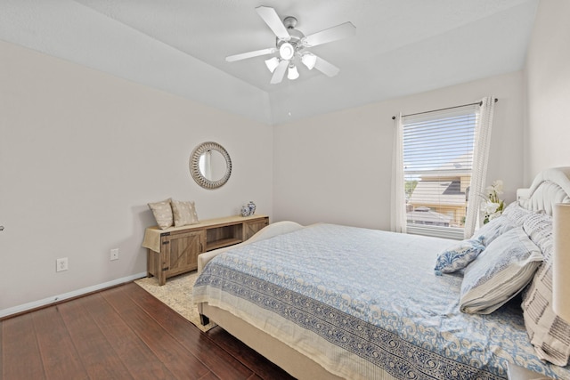
POLYGON ((452 273, 467 267, 485 249, 483 239, 485 238, 462 240, 437 255, 436 275, 441 276, 442 273, 452 273))

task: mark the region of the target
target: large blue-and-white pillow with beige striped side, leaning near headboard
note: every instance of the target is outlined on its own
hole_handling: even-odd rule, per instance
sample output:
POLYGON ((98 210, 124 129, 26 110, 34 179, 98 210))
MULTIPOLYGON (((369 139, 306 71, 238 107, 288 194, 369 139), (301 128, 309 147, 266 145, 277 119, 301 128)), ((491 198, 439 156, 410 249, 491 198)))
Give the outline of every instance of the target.
POLYGON ((463 275, 460 311, 490 314, 517 295, 542 263, 539 247, 522 227, 494 239, 463 275))

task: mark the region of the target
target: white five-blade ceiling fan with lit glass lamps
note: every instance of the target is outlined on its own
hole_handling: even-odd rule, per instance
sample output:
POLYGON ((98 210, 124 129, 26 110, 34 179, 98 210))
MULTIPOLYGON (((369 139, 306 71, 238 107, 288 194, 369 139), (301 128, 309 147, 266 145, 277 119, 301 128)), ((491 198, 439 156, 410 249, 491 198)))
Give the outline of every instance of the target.
POLYGON ((271 84, 281 83, 288 71, 287 77, 291 80, 299 77, 297 63, 301 61, 307 69, 318 69, 323 74, 334 77, 338 74, 338 67, 324 61, 321 57, 307 51, 307 48, 337 41, 347 36, 354 36, 356 28, 351 22, 345 22, 336 27, 324 29, 310 36, 305 36, 297 30, 297 19, 286 17, 282 22, 275 10, 268 6, 258 6, 256 11, 265 21, 267 26, 273 30, 276 38, 275 47, 256 50, 248 53, 240 53, 225 57, 225 61, 234 62, 248 58, 258 57, 277 53, 273 58, 265 60, 265 65, 273 73, 271 84))

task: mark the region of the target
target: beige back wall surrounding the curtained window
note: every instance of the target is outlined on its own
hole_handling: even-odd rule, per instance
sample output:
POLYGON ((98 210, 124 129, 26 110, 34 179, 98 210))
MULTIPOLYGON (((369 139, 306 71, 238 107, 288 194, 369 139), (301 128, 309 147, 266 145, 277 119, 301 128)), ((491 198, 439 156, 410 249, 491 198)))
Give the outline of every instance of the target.
POLYGON ((523 185, 521 71, 274 127, 274 219, 388 230, 392 117, 486 95, 499 99, 487 179, 503 180, 505 196, 513 200, 523 185))

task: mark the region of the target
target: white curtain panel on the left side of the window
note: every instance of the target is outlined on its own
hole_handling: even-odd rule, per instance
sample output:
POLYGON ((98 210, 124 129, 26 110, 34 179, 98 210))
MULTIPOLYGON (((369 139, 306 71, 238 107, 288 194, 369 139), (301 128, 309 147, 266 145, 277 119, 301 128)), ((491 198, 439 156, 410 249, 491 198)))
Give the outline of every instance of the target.
POLYGON ((395 117, 394 156, 392 158, 392 197, 390 228, 406 232, 406 194, 403 181, 403 124, 402 113, 395 117))

